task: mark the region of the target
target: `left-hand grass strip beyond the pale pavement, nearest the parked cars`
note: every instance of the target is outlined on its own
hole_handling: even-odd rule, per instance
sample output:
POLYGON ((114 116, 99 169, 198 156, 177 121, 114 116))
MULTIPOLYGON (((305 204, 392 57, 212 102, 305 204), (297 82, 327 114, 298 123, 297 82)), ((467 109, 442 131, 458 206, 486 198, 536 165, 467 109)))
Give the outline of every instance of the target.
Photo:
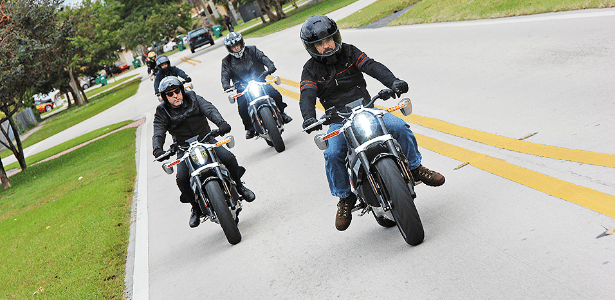
MULTIPOLYGON (((121 81, 118 80, 117 84, 121 81)), ((71 109, 67 109, 57 113, 56 115, 48 118, 45 121, 45 125, 30 136, 22 141, 24 149, 28 146, 34 145, 56 133, 59 133, 67 128, 70 128, 76 124, 79 124, 106 109, 126 100, 130 96, 137 93, 141 78, 135 78, 131 81, 117 87, 116 89, 105 90, 102 93, 91 97, 89 103, 83 106, 73 106, 71 109)), ((0 153, 0 157, 8 157, 13 155, 11 151, 3 151, 0 153)))

